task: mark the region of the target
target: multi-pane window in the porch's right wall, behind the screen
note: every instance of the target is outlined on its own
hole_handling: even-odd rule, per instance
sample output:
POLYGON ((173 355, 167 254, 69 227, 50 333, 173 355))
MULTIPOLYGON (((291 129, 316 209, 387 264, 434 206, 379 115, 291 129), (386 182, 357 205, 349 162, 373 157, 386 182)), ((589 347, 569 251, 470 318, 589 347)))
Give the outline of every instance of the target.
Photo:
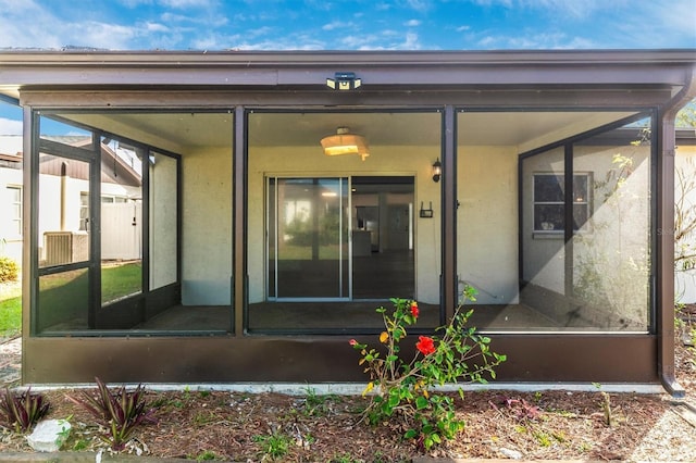
MULTIPOLYGON (((563 233, 563 174, 534 174, 534 232, 563 233)), ((573 175, 573 230, 589 216, 589 174, 573 175)))

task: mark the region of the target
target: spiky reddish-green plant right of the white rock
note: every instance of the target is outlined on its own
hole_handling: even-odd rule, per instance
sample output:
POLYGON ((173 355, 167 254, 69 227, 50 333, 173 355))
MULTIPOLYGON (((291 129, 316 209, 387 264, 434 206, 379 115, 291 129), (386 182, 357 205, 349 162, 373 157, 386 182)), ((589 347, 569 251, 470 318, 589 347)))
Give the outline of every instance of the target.
POLYGON ((128 391, 121 386, 112 390, 101 379, 95 380, 96 393, 84 391, 80 398, 71 397, 71 400, 85 408, 108 429, 108 435, 101 438, 112 450, 123 450, 138 426, 154 422, 152 409, 146 408, 145 388, 138 385, 128 391))

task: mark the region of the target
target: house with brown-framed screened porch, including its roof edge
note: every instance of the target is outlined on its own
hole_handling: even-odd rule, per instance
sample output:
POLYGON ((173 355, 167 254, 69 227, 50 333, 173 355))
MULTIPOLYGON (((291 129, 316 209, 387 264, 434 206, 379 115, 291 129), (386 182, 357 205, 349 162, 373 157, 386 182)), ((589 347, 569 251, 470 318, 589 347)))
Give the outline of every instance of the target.
POLYGON ((363 380, 348 340, 375 306, 414 298, 433 333, 472 285, 499 380, 679 393, 661 232, 695 57, 0 52, 32 134, 23 380, 363 380), (59 166, 85 195, 58 229, 86 248, 57 263, 59 166), (108 249, 114 187, 141 259, 108 249))

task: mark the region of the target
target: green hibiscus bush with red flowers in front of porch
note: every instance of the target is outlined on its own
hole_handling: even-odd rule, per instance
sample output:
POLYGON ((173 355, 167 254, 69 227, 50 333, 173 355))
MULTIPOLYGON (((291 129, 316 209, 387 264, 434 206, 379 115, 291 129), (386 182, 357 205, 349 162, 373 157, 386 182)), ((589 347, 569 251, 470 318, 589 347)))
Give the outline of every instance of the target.
MULTIPOLYGON (((464 297, 475 300, 473 288, 464 297)), ((403 437, 415 439, 419 448, 430 450, 444 439, 453 438, 464 428, 455 414, 455 401, 442 386, 452 384, 487 383, 495 378, 495 367, 506 355, 490 350, 490 338, 481 336, 467 326, 473 310, 457 308, 448 325, 437 328, 436 336, 419 336, 415 353, 410 361, 402 359, 400 342, 407 337, 406 327, 419 317, 418 302, 391 299, 394 311, 378 308, 385 330, 380 335, 380 347, 350 340, 360 351, 359 364, 370 375, 363 396, 371 401, 363 418, 376 425, 393 422, 403 429, 403 437), (437 390, 439 388, 439 391, 437 390)), ((459 388, 463 399, 463 390, 459 388)))

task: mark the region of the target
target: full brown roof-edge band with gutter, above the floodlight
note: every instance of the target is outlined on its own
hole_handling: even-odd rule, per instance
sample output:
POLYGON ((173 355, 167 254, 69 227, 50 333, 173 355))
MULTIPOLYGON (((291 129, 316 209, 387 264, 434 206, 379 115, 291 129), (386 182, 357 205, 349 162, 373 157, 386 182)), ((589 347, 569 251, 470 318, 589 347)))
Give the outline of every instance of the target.
POLYGON ((696 50, 0 51, 2 86, 315 86, 355 72, 363 86, 667 85, 696 50))

